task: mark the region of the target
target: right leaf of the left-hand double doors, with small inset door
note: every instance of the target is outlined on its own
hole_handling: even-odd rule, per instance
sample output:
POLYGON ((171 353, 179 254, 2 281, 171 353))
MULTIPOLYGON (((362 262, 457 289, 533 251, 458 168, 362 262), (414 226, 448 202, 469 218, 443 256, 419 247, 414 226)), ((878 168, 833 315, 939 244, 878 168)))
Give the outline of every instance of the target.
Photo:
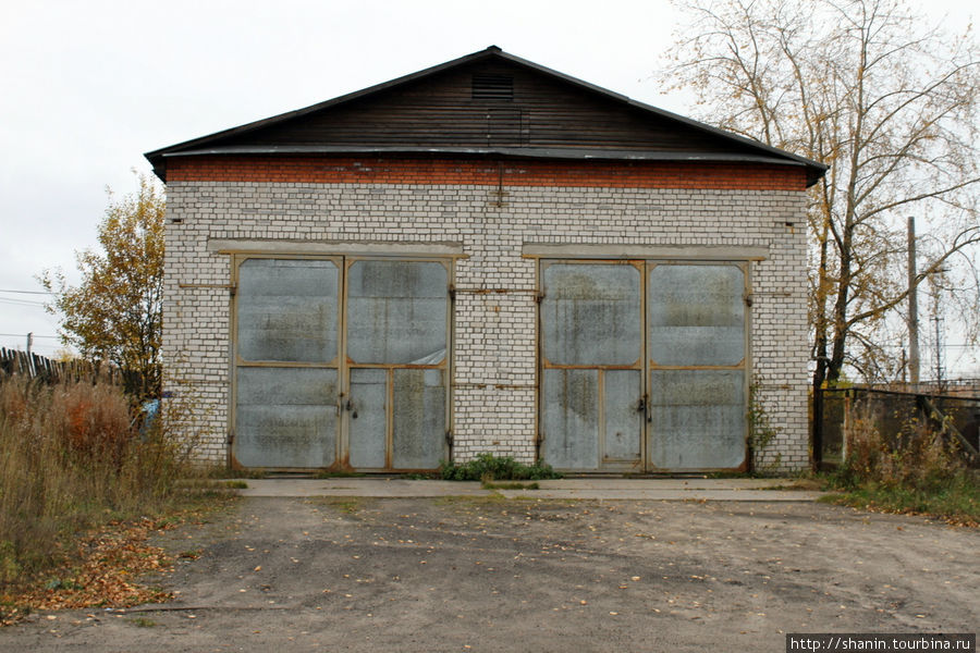
POLYGON ((434 469, 444 457, 448 288, 440 261, 348 262, 344 412, 355 469, 434 469))

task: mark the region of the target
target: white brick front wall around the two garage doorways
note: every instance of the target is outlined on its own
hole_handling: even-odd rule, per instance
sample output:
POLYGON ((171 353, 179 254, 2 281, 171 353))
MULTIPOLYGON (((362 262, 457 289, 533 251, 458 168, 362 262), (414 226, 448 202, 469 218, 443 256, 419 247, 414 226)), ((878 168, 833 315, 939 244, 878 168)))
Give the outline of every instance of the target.
POLYGON ((208 238, 461 242, 456 296, 455 457, 530 461, 536 424, 536 261, 526 244, 764 247, 751 263, 752 373, 784 469, 808 463, 805 196, 797 192, 259 184, 168 185, 164 356, 193 383, 213 429, 204 458, 223 463, 229 423, 228 255, 208 238), (171 221, 177 219, 180 223, 171 221), (788 227, 787 222, 794 227, 788 227), (183 284, 184 287, 181 287, 183 284))

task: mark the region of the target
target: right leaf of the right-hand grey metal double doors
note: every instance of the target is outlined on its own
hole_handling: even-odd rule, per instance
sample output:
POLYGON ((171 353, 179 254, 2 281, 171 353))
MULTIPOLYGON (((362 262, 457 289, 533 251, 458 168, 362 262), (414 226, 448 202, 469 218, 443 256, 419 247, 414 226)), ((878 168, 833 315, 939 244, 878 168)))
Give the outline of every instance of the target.
POLYGON ((737 264, 649 264, 650 470, 745 463, 745 295, 737 264))

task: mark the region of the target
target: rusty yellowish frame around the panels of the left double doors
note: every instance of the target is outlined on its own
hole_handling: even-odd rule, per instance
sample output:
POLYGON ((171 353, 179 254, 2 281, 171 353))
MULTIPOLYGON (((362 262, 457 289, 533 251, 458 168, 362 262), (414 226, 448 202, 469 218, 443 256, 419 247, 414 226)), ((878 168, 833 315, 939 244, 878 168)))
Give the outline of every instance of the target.
MULTIPOLYGON (((333 402, 326 401, 324 406, 333 406, 333 412, 336 417, 335 422, 335 453, 333 464, 329 469, 350 470, 350 419, 351 411, 346 409, 346 401, 351 395, 351 370, 352 369, 384 369, 388 378, 388 397, 387 405, 392 406, 391 383, 392 374, 395 369, 433 369, 440 370, 443 378, 444 387, 444 423, 446 429, 451 430, 453 423, 453 398, 452 398, 452 367, 454 362, 453 347, 453 329, 455 319, 455 303, 452 300, 451 288, 455 281, 455 260, 457 256, 407 256, 407 255, 303 255, 303 254, 279 254, 279 252, 230 252, 230 274, 231 274, 231 296, 229 313, 229 441, 228 457, 229 465, 232 468, 244 467, 235 456, 235 433, 237 421, 237 399, 238 399, 238 380, 237 370, 240 368, 309 368, 309 369, 333 369, 336 370, 336 396, 333 402), (309 260, 309 261, 332 261, 338 269, 338 352, 336 356, 329 362, 297 362, 297 361, 270 361, 270 360, 246 360, 240 355, 238 342, 238 320, 237 305, 238 297, 236 288, 240 285, 240 270, 242 264, 250 259, 274 259, 274 260, 309 260), (385 364, 355 364, 346 355, 347 352, 347 272, 350 267, 358 261, 365 260, 388 260, 388 261, 412 261, 412 262, 434 262, 443 266, 446 270, 446 320, 445 320, 445 344, 446 352, 442 361, 436 365, 385 365, 385 364)), ((324 397, 326 399, 326 397, 324 397)), ((429 469, 394 469, 391 467, 391 438, 392 438, 392 410, 387 410, 385 426, 385 466, 383 468, 365 468, 363 471, 431 471, 429 469)), ((446 438, 446 441, 449 439, 446 438)), ((443 443, 443 453, 448 448, 448 444, 443 443)), ((448 458, 448 455, 445 456, 448 458)), ((322 468, 321 466, 311 465, 309 467, 255 467, 256 469, 278 469, 278 470, 308 470, 322 468)))

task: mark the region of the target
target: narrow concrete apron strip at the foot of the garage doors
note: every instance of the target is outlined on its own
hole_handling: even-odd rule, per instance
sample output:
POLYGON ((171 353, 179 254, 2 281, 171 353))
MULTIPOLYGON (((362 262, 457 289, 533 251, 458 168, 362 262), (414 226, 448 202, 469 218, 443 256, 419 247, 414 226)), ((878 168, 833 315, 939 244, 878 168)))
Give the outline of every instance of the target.
MULTIPOLYGON (((812 502, 825 492, 796 479, 559 479, 534 481, 538 490, 488 490, 476 481, 412 481, 397 478, 248 479, 242 496, 504 496, 649 501, 812 502)), ((524 481, 529 484, 531 481, 524 481)))

